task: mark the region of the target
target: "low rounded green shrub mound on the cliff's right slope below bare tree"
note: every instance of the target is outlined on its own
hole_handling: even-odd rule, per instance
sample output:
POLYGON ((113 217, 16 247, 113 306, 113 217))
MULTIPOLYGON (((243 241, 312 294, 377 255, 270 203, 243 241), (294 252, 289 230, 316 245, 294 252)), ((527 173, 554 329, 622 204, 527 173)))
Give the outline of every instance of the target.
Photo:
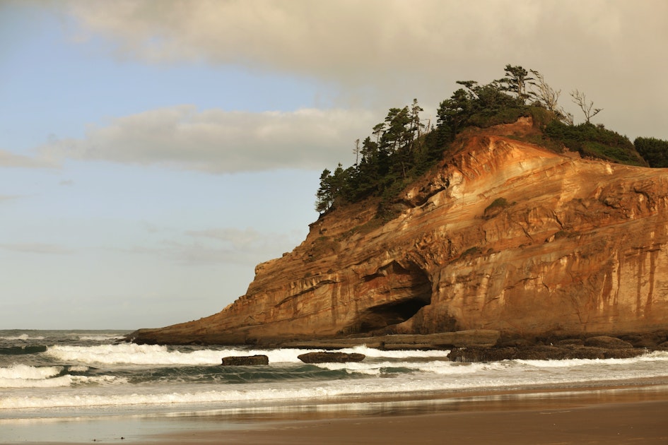
POLYGON ((602 125, 567 125, 554 120, 545 126, 544 132, 570 150, 578 151, 585 158, 600 158, 628 165, 646 165, 626 136, 605 129, 602 125))

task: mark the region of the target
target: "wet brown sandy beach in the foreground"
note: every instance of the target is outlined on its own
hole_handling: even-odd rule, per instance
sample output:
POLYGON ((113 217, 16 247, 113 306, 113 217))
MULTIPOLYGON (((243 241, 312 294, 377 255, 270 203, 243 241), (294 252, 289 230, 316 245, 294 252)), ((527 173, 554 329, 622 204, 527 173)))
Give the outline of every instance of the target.
POLYGON ((225 416, 48 422, 31 425, 42 429, 44 440, 16 443, 667 444, 667 416, 668 386, 639 384, 370 399, 225 416))

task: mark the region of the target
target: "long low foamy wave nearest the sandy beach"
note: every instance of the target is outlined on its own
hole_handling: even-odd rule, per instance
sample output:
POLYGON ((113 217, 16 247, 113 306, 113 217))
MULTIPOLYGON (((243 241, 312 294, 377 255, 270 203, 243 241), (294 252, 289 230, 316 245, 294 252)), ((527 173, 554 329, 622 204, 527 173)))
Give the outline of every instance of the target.
MULTIPOLYGON (((273 403, 275 401, 292 401, 301 399, 322 401, 329 398, 382 395, 397 393, 433 393, 434 391, 469 391, 471 389, 499 390, 502 388, 553 386, 560 384, 592 384, 601 381, 601 376, 595 374, 580 374, 575 379, 572 376, 563 376, 555 379, 553 376, 522 376, 521 373, 505 373, 498 376, 481 375, 454 376, 452 379, 443 379, 435 376, 426 378, 412 378, 405 376, 399 379, 356 379, 356 380, 332 380, 332 381, 293 381, 284 382, 277 386, 271 384, 242 384, 242 385, 218 385, 205 384, 194 386, 160 386, 152 385, 150 388, 130 387, 129 390, 117 391, 102 387, 102 390, 86 391, 85 393, 54 393, 50 396, 42 396, 33 393, 30 396, 9 395, 0 398, 0 410, 12 410, 23 408, 86 408, 101 406, 129 406, 137 407, 146 405, 177 405, 193 404, 199 405, 214 403, 217 406, 225 404, 228 406, 240 403, 273 403)), ((97 387, 97 386, 96 386, 97 387)), ((118 388, 114 386, 113 388, 118 388)))

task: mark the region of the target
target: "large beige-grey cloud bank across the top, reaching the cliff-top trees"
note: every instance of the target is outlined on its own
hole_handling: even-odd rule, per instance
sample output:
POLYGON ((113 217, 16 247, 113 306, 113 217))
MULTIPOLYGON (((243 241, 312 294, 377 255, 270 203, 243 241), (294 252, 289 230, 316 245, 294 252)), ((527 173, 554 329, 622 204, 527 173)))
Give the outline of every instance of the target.
POLYGON ((74 18, 76 41, 104 36, 119 59, 307 76, 337 85, 341 103, 435 105, 455 81, 488 82, 510 63, 538 69, 566 93, 584 90, 620 131, 651 135, 668 119, 664 0, 50 4, 74 18))

